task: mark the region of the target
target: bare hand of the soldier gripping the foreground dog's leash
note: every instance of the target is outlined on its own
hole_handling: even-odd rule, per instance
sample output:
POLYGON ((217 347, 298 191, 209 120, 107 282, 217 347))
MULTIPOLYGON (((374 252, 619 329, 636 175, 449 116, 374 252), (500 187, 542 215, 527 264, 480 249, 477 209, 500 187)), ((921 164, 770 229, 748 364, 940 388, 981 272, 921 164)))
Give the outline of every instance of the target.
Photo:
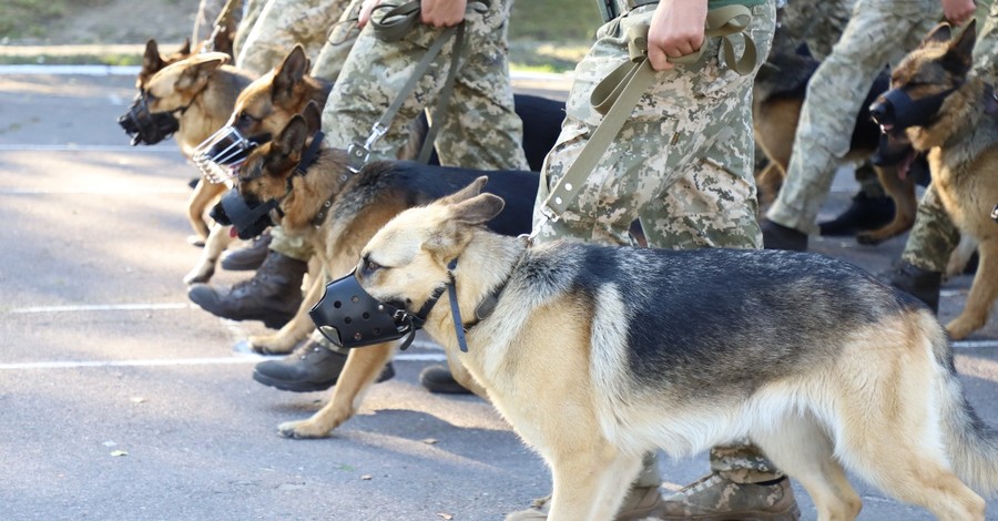
POLYGON ((648 59, 652 69, 675 67, 668 58, 681 58, 703 45, 706 0, 662 0, 648 30, 648 59))

